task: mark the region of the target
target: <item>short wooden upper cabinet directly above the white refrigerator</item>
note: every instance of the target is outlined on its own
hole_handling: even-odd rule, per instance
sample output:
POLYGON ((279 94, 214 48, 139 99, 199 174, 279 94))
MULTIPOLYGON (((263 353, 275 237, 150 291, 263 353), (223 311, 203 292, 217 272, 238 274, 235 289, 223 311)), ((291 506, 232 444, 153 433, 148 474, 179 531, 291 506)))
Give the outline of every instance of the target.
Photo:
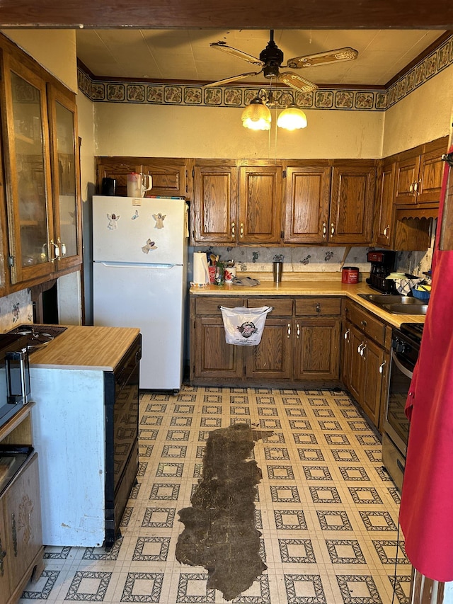
POLYGON ((115 195, 127 196, 127 174, 141 172, 149 174, 153 186, 147 195, 185 197, 187 195, 187 173, 185 159, 164 157, 96 157, 97 187, 101 194, 102 179, 115 178, 115 195))

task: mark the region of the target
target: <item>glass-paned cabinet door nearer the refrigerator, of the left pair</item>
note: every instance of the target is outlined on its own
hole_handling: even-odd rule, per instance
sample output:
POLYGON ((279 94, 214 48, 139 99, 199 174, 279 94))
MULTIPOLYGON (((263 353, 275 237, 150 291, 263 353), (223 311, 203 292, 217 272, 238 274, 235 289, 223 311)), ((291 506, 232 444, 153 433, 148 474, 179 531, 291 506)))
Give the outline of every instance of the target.
POLYGON ((47 89, 58 270, 81 263, 79 137, 75 98, 47 89))

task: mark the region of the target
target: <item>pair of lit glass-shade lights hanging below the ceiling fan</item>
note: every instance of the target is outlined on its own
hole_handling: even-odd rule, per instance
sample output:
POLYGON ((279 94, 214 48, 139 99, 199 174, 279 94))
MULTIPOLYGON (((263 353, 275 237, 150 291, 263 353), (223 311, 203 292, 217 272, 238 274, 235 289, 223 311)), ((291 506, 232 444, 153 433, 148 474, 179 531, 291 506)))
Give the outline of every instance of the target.
MULTIPOLYGON (((275 93, 261 89, 242 112, 242 125, 250 130, 270 130, 271 115, 269 107, 277 107, 275 93)), ((284 130, 299 130, 306 127, 306 115, 297 103, 290 103, 280 113, 277 126, 284 130)))

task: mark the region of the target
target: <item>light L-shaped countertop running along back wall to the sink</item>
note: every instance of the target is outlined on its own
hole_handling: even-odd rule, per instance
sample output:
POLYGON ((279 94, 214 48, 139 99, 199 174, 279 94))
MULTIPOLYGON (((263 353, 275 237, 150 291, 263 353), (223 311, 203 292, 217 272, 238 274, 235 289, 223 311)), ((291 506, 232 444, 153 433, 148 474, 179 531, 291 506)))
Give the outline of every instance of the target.
MULTIPOLYGON (((259 278, 258 278, 259 279, 259 278)), ((196 296, 343 296, 357 302, 365 309, 375 314, 380 319, 386 321, 393 327, 399 327, 401 323, 424 323, 425 316, 420 314, 392 314, 380 309, 372 302, 364 300, 359 294, 377 294, 365 282, 355 285, 346 285, 341 283, 341 276, 338 280, 327 278, 323 280, 285 280, 281 283, 274 283, 270 280, 260 280, 260 285, 253 287, 243 285, 207 285, 206 287, 190 287, 190 294, 196 296)))

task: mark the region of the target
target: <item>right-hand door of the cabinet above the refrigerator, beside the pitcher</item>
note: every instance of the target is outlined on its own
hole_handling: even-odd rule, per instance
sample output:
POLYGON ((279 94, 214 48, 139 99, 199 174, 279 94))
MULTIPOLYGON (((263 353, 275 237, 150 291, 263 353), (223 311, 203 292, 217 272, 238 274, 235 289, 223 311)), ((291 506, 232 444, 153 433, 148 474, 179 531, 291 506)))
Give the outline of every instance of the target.
POLYGON ((185 159, 156 157, 143 160, 139 171, 153 178, 153 186, 147 195, 170 197, 187 195, 185 159))

